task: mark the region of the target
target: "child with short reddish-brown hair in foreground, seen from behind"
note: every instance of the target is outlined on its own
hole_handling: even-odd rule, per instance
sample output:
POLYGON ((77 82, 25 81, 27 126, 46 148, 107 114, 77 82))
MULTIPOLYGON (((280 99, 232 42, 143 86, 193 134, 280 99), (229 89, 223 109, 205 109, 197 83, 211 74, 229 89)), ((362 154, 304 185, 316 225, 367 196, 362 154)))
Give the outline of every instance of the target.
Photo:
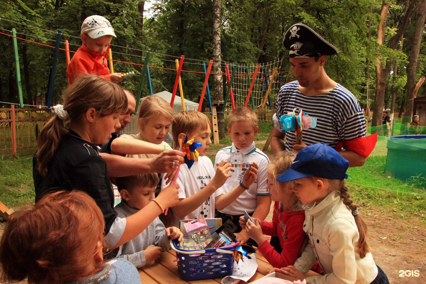
POLYGON ((3 281, 29 284, 137 284, 128 261, 103 261, 104 216, 81 191, 43 196, 33 207, 15 212, 0 241, 3 281))

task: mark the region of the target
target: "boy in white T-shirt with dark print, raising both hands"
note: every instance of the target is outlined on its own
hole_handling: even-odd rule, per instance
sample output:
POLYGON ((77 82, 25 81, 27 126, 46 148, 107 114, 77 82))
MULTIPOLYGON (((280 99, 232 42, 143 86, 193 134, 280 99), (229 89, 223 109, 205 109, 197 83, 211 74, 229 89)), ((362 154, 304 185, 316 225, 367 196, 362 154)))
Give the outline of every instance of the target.
MULTIPOLYGON (((181 164, 176 184, 179 188, 179 202, 173 207, 175 226, 179 220, 197 219, 200 217, 214 218, 214 210, 223 209, 233 202, 242 192, 256 181, 258 165, 252 163, 245 171, 238 186, 227 193, 219 188, 230 177, 232 166, 222 161, 216 172, 213 163, 206 156, 211 144, 211 123, 206 115, 195 110, 180 112, 172 123, 172 135, 175 149, 179 149, 179 138, 194 137, 194 143, 199 142, 196 150, 199 153, 198 162, 189 169, 187 164, 181 164)), ((162 187, 164 188, 163 182, 162 187)), ((164 189, 163 189, 164 190, 164 189)))

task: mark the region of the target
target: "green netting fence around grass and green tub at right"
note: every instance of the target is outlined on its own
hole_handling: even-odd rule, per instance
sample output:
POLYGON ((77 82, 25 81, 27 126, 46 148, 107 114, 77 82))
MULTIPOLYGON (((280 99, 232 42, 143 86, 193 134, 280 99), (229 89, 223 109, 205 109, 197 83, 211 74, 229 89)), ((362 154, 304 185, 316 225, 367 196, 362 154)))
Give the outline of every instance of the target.
POLYGON ((389 129, 387 125, 367 128, 367 135, 374 133, 373 152, 363 166, 348 169, 348 182, 425 195, 426 126, 408 126, 400 119, 389 129))

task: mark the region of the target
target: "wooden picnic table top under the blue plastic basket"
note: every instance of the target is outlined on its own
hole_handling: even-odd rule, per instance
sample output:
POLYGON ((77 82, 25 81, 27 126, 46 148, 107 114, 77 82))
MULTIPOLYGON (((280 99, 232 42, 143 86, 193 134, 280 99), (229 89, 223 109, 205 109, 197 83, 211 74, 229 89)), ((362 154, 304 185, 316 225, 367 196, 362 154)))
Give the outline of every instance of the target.
MULTIPOLYGON (((257 270, 250 278, 250 281, 257 280, 267 275, 272 269, 272 265, 266 261, 265 257, 260 252, 256 252, 257 270)), ((148 261, 147 264, 139 269, 142 284, 218 284, 222 283, 222 278, 203 279, 203 280, 182 280, 179 275, 178 265, 173 260, 176 259, 174 250, 163 252, 156 261, 148 261)), ((241 284, 246 284, 245 281, 240 281, 241 284)))

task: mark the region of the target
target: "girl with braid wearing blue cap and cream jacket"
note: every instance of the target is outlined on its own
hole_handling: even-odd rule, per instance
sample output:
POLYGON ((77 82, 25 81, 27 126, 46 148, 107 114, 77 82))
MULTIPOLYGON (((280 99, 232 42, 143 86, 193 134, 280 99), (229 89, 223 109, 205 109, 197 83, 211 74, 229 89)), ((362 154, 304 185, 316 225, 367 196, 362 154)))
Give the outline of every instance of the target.
POLYGON ((280 272, 311 284, 389 284, 367 244, 367 225, 345 184, 349 162, 330 146, 317 143, 300 150, 290 169, 277 178, 294 181, 293 191, 305 204, 309 241, 293 265, 280 272), (306 277, 315 261, 324 275, 306 277))

